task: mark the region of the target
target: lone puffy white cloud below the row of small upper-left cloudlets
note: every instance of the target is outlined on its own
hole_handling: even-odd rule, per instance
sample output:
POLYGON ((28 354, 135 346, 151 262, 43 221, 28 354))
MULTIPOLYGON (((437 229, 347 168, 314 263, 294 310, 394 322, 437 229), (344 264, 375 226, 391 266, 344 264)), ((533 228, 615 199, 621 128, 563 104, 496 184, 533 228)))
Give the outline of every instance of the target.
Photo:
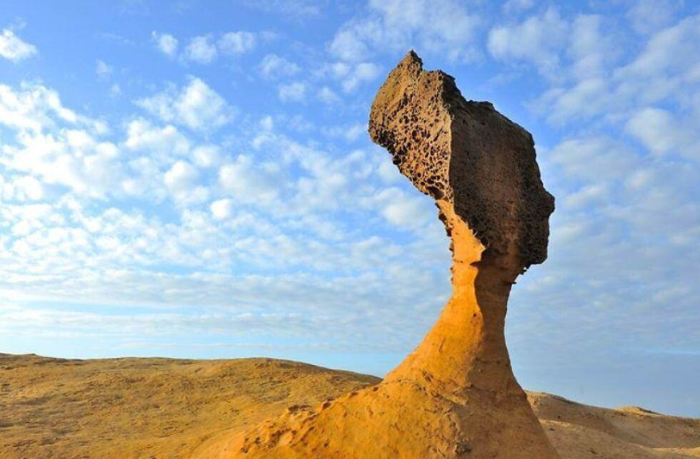
POLYGON ((221 95, 199 78, 189 77, 186 86, 174 86, 136 104, 166 122, 175 122, 196 131, 219 128, 233 116, 233 108, 221 95))

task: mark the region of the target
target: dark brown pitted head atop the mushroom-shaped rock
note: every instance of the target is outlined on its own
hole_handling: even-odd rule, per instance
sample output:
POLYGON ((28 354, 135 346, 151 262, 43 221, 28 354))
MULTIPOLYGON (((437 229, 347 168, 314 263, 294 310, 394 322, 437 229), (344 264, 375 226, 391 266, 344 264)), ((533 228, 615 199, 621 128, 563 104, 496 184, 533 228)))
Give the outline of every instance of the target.
POLYGON ((542 185, 530 133, 488 102, 467 101, 454 78, 409 52, 370 115, 372 140, 401 172, 455 212, 488 249, 517 245, 524 268, 547 258, 554 198, 542 185))

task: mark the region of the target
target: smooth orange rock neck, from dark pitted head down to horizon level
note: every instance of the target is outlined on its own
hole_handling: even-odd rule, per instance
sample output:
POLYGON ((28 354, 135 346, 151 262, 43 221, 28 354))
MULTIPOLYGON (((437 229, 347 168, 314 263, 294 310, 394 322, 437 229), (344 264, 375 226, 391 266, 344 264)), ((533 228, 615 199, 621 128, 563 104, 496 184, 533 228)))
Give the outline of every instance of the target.
POLYGON ((485 249, 451 203, 438 201, 451 237, 453 293, 418 348, 385 381, 411 379, 445 395, 471 388, 519 389, 504 324, 508 297, 522 271, 517 256, 485 249))

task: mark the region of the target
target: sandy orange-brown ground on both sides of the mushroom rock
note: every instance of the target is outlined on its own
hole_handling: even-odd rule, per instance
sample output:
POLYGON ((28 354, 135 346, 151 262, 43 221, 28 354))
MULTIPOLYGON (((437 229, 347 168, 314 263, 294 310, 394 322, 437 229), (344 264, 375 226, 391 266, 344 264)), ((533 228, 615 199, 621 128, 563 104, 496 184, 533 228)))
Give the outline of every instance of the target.
MULTIPOLYGON (((0 354, 0 458, 188 458, 285 409, 377 382, 271 359, 0 354)), ((700 458, 698 419, 596 408, 541 393, 529 399, 562 459, 700 458)))

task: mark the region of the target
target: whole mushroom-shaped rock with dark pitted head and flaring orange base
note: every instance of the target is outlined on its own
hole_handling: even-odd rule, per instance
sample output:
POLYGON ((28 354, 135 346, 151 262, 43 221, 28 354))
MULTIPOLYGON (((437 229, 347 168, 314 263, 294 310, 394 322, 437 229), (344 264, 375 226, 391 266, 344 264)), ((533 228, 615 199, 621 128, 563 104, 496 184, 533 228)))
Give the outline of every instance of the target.
MULTIPOLYGON (((369 132, 435 199, 453 294, 423 342, 377 386, 293 407, 208 457, 556 459, 515 380, 504 335, 515 279, 547 257, 554 198, 532 136, 413 52, 389 74, 369 132)), ((204 456, 203 456, 204 457, 204 456)))

